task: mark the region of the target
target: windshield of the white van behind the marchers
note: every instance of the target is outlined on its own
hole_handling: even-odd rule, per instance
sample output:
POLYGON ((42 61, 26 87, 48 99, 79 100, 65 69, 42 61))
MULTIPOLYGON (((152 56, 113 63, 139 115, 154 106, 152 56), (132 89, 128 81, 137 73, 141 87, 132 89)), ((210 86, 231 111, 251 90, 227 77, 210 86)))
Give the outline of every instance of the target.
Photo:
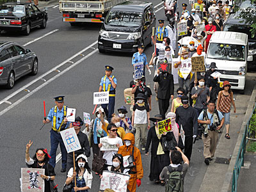
POLYGON ((216 60, 245 61, 244 45, 211 43, 207 58, 216 60))

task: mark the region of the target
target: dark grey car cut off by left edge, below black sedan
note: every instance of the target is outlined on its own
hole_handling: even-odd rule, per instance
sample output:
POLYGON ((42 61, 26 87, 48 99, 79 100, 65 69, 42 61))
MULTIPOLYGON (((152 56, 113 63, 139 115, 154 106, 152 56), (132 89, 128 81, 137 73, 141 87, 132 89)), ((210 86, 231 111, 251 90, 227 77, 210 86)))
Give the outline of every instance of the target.
POLYGON ((26 74, 35 76, 38 58, 35 52, 15 42, 0 42, 0 85, 11 89, 15 81, 26 74))

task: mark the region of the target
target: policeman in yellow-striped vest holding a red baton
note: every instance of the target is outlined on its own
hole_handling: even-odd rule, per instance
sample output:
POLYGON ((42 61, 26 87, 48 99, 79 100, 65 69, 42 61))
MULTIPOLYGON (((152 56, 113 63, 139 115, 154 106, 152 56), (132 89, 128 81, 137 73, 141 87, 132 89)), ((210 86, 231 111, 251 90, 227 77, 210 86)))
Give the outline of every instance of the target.
POLYGON ((64 106, 64 97, 65 96, 54 97, 56 106, 51 108, 46 120, 43 120, 44 124, 48 124, 49 122, 52 122, 52 129, 50 131, 51 132, 51 152, 50 152, 51 159, 49 163, 53 168, 56 165, 56 151, 60 143, 61 161, 62 161, 61 172, 66 172, 67 150, 61 138, 60 131, 63 131, 64 129, 67 129, 67 127, 69 127, 69 123, 66 118, 67 106, 64 106))

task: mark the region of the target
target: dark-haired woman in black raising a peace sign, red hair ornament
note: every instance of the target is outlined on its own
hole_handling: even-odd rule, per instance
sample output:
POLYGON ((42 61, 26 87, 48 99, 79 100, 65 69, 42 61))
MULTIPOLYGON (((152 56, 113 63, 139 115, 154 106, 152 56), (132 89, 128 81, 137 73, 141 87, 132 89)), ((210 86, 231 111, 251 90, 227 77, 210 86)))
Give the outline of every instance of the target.
POLYGON ((44 191, 51 192, 50 180, 55 179, 54 168, 51 166, 51 164, 48 163, 49 159, 51 159, 51 156, 49 156, 47 153, 46 148, 38 148, 36 149, 35 156, 33 156, 33 159, 31 159, 31 157, 29 157, 29 148, 32 144, 33 141, 31 142, 29 140, 29 143, 26 145, 26 164, 29 168, 45 169, 45 175, 40 175, 40 177, 44 179, 44 191))

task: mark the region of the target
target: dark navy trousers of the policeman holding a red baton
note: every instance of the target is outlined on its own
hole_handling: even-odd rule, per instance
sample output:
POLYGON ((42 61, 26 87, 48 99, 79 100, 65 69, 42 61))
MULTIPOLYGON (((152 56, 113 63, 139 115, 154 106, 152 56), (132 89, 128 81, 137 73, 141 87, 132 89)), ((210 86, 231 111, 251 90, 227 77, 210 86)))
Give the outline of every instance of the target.
POLYGON ((50 160, 49 163, 51 164, 51 166, 54 168, 56 165, 56 152, 57 152, 57 148, 58 145, 60 143, 60 150, 61 150, 61 161, 62 161, 62 168, 66 168, 67 167, 67 150, 65 148, 65 145, 63 143, 63 140, 61 138, 60 133, 53 131, 51 129, 51 152, 50 152, 50 160))

